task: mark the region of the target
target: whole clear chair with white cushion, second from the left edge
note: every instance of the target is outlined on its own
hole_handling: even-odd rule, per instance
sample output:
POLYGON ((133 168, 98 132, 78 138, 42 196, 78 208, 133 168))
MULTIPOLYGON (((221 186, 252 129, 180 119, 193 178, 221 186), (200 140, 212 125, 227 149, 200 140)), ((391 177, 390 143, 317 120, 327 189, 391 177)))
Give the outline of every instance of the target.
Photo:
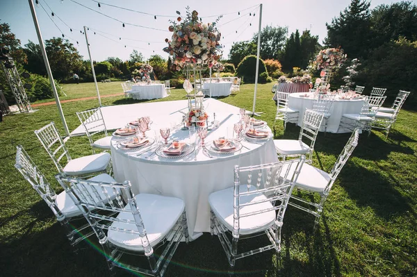
POLYGON ((35 131, 36 137, 44 146, 60 173, 70 176, 90 176, 99 173, 111 173, 111 156, 109 153, 99 153, 72 159, 67 146, 58 133, 54 122, 35 131), (63 167, 60 162, 66 158, 63 167))

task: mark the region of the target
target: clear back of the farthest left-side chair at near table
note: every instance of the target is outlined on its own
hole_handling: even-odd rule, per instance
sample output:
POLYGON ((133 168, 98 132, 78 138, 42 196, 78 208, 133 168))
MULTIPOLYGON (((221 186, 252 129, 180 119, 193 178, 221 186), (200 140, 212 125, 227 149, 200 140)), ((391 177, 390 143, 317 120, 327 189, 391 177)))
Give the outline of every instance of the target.
POLYGON ((81 124, 83 124, 91 146, 94 143, 92 140, 93 135, 104 132, 107 136, 107 128, 100 108, 76 112, 76 116, 79 118, 81 124))

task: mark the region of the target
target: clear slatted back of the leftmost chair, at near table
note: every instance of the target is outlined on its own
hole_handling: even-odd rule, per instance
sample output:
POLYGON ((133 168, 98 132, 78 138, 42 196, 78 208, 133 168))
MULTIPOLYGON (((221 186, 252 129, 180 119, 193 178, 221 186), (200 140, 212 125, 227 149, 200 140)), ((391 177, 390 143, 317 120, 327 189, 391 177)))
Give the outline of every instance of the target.
POLYGON ((47 203, 56 219, 63 221, 65 215, 63 215, 55 203, 56 193, 21 145, 17 146, 15 167, 26 181, 31 184, 33 190, 38 192, 39 196, 47 203))

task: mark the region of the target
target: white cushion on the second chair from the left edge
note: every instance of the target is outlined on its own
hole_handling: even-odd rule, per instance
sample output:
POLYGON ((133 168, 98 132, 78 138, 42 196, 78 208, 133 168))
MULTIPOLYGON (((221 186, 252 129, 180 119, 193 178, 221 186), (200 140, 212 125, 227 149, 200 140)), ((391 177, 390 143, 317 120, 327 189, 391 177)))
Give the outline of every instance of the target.
POLYGON ((63 171, 67 175, 83 175, 104 171, 110 162, 109 153, 99 153, 70 160, 63 171))

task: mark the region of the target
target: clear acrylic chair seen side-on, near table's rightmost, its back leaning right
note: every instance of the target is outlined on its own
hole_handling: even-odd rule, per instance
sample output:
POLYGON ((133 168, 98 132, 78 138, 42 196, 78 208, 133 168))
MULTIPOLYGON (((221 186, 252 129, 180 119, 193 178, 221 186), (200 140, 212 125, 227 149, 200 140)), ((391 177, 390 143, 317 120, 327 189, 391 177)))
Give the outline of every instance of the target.
POLYGON ((342 153, 338 156, 330 174, 311 165, 304 164, 297 181, 295 181, 295 188, 293 194, 291 194, 291 200, 288 204, 314 215, 316 217, 314 224, 315 227, 320 220, 323 205, 325 204, 327 196, 329 196, 329 192, 332 190, 332 186, 334 185, 338 174, 340 174, 343 166, 356 148, 358 140, 359 129, 355 129, 349 140, 347 140, 342 153), (312 194, 312 197, 309 197, 309 199, 314 199, 314 194, 318 194, 319 200, 311 201, 301 196, 296 196, 298 191, 312 194))

